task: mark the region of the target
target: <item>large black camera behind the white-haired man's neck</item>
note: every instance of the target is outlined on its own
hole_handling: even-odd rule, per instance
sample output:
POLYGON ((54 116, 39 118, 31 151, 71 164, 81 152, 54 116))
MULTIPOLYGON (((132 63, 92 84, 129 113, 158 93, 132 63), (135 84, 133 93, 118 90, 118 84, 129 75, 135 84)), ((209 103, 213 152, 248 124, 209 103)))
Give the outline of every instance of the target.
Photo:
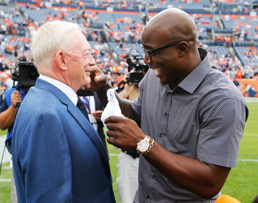
POLYGON ((35 86, 39 73, 32 62, 20 61, 11 69, 11 77, 14 82, 18 81, 18 88, 26 91, 35 86))

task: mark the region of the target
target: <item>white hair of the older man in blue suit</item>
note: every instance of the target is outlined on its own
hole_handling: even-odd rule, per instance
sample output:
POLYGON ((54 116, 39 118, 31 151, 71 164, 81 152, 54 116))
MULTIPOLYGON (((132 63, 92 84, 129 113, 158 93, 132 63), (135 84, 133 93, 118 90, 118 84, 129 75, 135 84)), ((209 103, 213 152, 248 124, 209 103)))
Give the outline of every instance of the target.
POLYGON ((55 20, 46 22, 30 35, 34 64, 40 68, 52 68, 54 56, 58 51, 71 53, 74 48, 72 31, 82 32, 77 23, 55 20))

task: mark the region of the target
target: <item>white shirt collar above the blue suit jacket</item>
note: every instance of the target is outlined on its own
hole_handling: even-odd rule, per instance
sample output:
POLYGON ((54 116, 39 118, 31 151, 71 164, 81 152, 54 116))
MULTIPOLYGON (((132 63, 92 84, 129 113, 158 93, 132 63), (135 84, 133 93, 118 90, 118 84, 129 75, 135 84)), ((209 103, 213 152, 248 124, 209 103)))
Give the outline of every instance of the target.
POLYGON ((78 97, 71 87, 67 86, 66 84, 64 84, 56 79, 53 79, 51 77, 48 77, 48 76, 45 76, 42 74, 39 74, 39 78, 46 82, 49 82, 53 86, 56 86, 59 90, 61 90, 63 93, 65 93, 67 95, 67 97, 72 101, 72 103, 74 105, 77 104, 78 97))

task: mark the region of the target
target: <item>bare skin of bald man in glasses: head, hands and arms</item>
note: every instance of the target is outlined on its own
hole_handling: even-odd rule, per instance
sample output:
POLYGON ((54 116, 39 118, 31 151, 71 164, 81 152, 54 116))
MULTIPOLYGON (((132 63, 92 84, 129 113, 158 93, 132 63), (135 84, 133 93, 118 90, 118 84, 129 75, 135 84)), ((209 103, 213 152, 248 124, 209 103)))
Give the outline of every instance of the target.
MULTIPOLYGON (((147 50, 180 42, 154 53, 152 60, 145 55, 144 60, 150 68, 160 68, 159 81, 170 84, 171 89, 201 63, 196 46, 196 25, 179 9, 166 9, 155 15, 145 26, 141 40, 147 50)), ((92 70, 91 77, 92 82, 87 87, 96 90, 103 104, 107 104, 106 91, 112 87, 98 68, 92 70)), ((136 150, 136 143, 144 139, 145 134, 138 127, 140 122, 134 116, 131 102, 116 96, 125 117, 111 116, 105 120, 109 129, 107 135, 114 138, 108 139, 108 143, 124 150, 136 150)), ((230 171, 227 167, 174 154, 157 142, 145 159, 173 183, 205 199, 220 191, 230 171)))

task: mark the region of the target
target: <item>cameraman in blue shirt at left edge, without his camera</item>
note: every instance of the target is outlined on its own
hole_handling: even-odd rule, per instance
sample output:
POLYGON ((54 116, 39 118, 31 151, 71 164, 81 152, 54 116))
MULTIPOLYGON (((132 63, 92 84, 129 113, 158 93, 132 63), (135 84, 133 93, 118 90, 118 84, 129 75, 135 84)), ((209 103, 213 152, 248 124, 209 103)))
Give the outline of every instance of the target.
MULTIPOLYGON (((13 124, 16 118, 16 114, 19 110, 17 107, 18 103, 21 103, 26 95, 26 92, 21 88, 20 91, 16 90, 15 87, 9 89, 5 94, 5 99, 0 108, 0 128, 1 130, 8 129, 5 146, 8 152, 12 154, 12 133, 13 124)), ((11 201, 12 203, 17 202, 17 194, 15 183, 13 179, 12 160, 11 166, 11 201)))

